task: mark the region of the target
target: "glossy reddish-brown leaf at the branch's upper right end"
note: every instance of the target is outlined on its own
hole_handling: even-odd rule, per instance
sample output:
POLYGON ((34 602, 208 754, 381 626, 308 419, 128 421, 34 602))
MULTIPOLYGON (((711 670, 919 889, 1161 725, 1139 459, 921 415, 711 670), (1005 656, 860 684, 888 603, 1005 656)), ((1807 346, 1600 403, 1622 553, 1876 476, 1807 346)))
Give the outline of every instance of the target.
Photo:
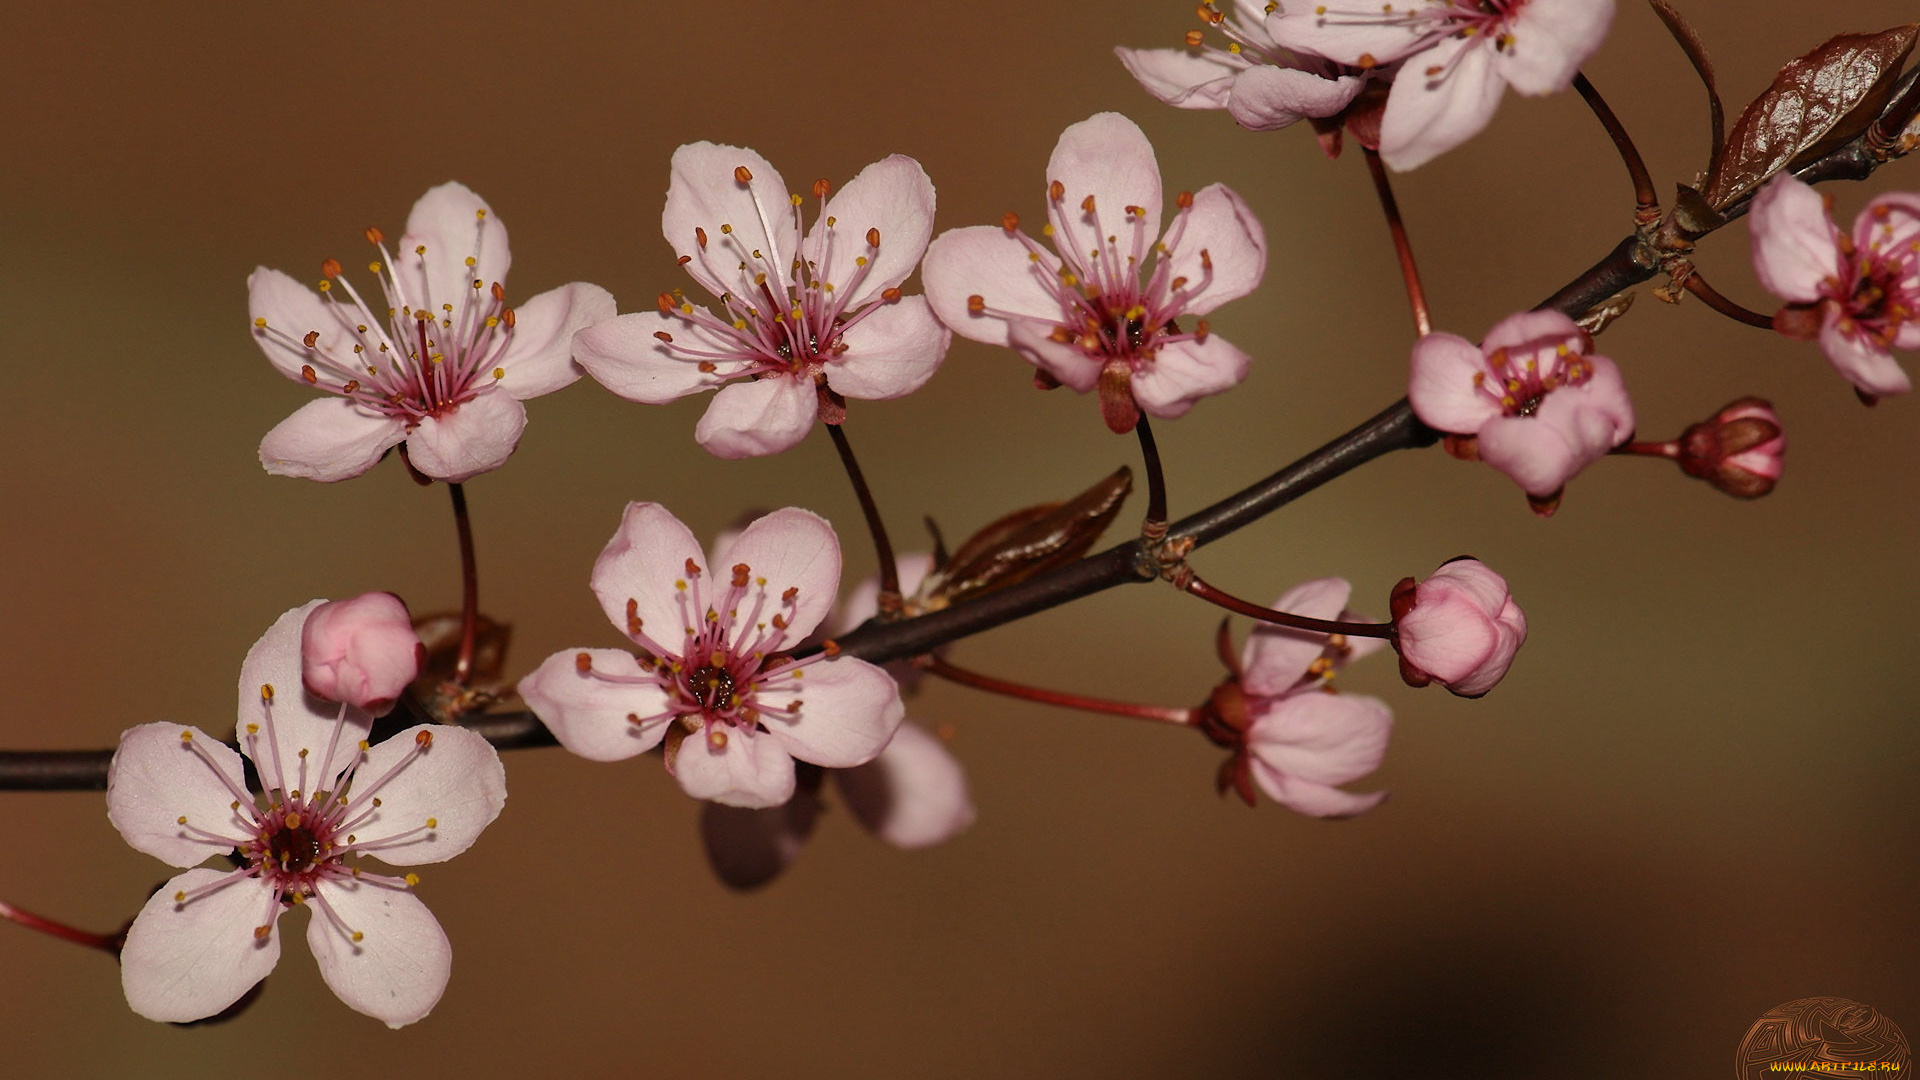
POLYGON ((1859 136, 1885 106, 1920 27, 1839 35, 1788 63, 1753 100, 1701 194, 1726 209, 1780 169, 1818 158, 1859 136))

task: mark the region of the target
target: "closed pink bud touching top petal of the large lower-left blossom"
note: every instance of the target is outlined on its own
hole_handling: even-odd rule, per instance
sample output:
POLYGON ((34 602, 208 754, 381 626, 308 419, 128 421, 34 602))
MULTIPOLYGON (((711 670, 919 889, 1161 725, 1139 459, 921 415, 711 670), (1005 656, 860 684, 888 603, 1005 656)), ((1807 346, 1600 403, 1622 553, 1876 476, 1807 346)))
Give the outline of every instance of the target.
POLYGON ((300 634, 300 673, 307 690, 380 713, 420 673, 426 646, 407 605, 392 592, 323 603, 300 634))

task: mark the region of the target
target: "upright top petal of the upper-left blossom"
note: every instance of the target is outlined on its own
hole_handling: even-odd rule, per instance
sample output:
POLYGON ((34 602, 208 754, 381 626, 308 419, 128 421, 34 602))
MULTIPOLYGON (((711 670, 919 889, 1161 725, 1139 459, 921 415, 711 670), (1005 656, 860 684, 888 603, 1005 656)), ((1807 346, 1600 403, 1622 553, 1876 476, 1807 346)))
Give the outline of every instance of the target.
POLYGON ((415 309, 440 311, 453 304, 459 311, 480 292, 476 281, 482 286, 505 282, 511 261, 499 215, 472 188, 447 181, 413 204, 407 234, 394 250, 394 279, 415 309))

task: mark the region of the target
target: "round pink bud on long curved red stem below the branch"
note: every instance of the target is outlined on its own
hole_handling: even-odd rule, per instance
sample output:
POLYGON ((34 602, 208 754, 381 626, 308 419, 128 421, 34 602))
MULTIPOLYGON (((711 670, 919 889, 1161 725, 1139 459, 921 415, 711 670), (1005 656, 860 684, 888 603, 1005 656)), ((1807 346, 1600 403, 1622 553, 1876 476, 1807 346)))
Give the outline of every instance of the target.
POLYGON ((1526 644, 1526 613, 1507 578, 1478 559, 1453 559, 1425 582, 1394 586, 1394 648, 1407 686, 1438 682, 1478 698, 1507 676, 1526 644))

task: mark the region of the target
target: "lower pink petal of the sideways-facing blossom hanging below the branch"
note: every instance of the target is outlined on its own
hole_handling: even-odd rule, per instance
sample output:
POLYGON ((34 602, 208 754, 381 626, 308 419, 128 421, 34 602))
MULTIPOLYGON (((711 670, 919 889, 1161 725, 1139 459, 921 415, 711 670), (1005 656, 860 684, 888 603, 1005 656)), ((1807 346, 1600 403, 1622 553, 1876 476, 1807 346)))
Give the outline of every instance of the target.
POLYGON ((1332 788, 1380 767, 1394 713, 1375 698, 1306 692, 1279 700, 1246 732, 1254 780, 1273 801, 1315 817, 1352 817, 1386 792, 1332 788))

